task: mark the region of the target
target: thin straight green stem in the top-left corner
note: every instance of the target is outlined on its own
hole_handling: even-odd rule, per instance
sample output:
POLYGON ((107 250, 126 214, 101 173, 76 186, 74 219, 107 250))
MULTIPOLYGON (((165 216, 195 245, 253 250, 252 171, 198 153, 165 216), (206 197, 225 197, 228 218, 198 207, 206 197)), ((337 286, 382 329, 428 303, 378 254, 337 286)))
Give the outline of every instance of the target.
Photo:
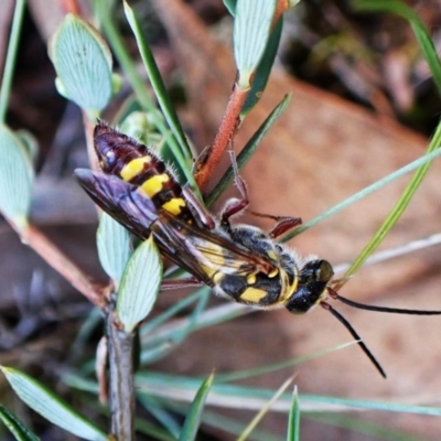
POLYGON ((24 7, 26 0, 17 0, 13 14, 11 36, 9 39, 7 60, 4 63, 3 80, 0 89, 0 123, 4 123, 9 96, 11 95, 12 74, 15 65, 17 52, 19 50, 19 40, 21 25, 23 23, 24 7))

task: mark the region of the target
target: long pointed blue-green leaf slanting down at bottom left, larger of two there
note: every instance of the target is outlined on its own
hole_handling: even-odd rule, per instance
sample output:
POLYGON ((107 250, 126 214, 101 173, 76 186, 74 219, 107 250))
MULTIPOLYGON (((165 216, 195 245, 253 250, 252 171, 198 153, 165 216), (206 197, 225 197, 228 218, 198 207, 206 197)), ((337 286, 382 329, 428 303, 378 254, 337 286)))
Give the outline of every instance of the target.
POLYGON ((73 410, 65 401, 20 370, 1 367, 15 394, 32 409, 52 423, 77 437, 93 441, 105 441, 107 437, 95 424, 73 410))

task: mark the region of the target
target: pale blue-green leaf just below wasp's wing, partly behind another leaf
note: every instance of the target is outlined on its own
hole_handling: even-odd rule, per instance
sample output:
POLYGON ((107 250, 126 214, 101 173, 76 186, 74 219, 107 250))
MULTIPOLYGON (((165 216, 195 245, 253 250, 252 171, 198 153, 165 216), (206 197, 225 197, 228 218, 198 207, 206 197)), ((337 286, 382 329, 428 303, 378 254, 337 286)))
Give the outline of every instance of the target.
POLYGON ((118 288, 130 257, 130 235, 107 213, 103 213, 99 217, 97 247, 104 270, 118 288))

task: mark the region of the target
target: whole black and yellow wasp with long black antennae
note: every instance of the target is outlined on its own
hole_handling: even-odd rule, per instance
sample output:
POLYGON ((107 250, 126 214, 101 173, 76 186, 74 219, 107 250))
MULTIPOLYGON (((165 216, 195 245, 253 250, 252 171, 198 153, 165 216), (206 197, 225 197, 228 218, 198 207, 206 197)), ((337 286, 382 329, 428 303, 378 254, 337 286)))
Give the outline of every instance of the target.
POLYGON ((291 313, 304 313, 320 304, 346 326, 383 376, 385 372, 358 334, 326 300, 334 298, 373 311, 441 314, 370 306, 342 298, 330 284, 334 275, 330 262, 315 257, 302 259, 275 240, 299 225, 299 218, 270 216, 277 224, 268 234, 249 225, 232 225, 230 217, 248 205, 237 166, 235 178, 241 197, 228 201, 215 218, 148 147, 100 121, 94 142, 103 171, 77 170, 80 185, 130 233, 141 239, 153 235, 161 254, 192 276, 186 279, 189 284, 205 283, 236 302, 284 306, 291 313))

